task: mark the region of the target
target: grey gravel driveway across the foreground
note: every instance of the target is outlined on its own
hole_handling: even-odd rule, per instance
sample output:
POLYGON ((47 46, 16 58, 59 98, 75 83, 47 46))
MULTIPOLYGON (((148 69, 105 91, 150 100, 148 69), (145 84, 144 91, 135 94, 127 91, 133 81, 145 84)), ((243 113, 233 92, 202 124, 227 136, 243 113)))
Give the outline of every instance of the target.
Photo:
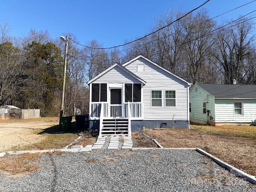
POLYGON ((44 154, 38 163, 40 170, 22 177, 0 174, 0 192, 256 192, 252 184, 190 150, 44 154))

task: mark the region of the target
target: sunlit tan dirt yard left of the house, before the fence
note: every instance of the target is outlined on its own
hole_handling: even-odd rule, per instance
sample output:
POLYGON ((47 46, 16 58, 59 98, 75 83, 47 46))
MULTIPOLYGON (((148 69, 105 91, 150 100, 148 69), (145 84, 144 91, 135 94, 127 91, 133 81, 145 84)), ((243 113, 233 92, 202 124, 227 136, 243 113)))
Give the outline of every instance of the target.
POLYGON ((58 121, 58 118, 0 120, 0 152, 63 147, 78 138, 74 133, 40 134, 47 129, 56 127, 58 121), (61 142, 63 143, 61 144, 61 142), (54 144, 56 146, 53 146, 54 144))

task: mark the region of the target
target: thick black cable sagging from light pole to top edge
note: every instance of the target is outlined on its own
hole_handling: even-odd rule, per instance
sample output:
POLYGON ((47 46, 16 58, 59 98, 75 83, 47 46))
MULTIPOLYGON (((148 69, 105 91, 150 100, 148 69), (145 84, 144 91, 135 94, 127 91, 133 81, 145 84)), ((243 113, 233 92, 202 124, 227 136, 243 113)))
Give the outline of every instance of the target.
POLYGON ((152 34, 158 32, 158 31, 160 31, 160 30, 162 30, 162 29, 164 29, 164 28, 170 26, 170 25, 173 24, 174 22, 176 22, 176 21, 178 21, 178 20, 181 20, 182 18, 186 17, 188 14, 190 14, 190 13, 194 12, 195 10, 199 9, 200 7, 204 6, 204 5, 205 5, 206 3, 208 3, 209 1, 210 1, 210 0, 207 0, 206 2, 204 2, 203 4, 201 4, 200 6, 198 6, 197 8, 194 8, 194 9, 191 10, 190 12, 188 12, 188 13, 186 13, 185 15, 183 15, 182 17, 180 17, 180 18, 174 20, 173 22, 169 23, 168 25, 163 26, 163 27, 159 28, 158 30, 156 30, 156 31, 154 31, 154 32, 152 32, 152 33, 150 33, 150 34, 147 34, 147 35, 145 35, 144 37, 138 38, 138 39, 136 39, 136 40, 133 40, 133 41, 131 41, 131 42, 128 42, 128 43, 125 43, 125 44, 122 44, 122 45, 113 46, 113 47, 108 47, 108 48, 93 48, 93 47, 85 46, 85 45, 82 45, 82 44, 80 44, 80 43, 78 43, 78 42, 75 42, 75 41, 72 40, 71 38, 70 38, 70 39, 71 39, 73 42, 75 42, 75 43, 77 43, 77 44, 79 44, 79 45, 81 45, 81 46, 84 46, 84 47, 86 47, 86 48, 92 48, 92 49, 112 49, 112 48, 117 48, 117 47, 125 46, 125 45, 128 45, 128 44, 134 43, 134 42, 136 42, 136 41, 138 41, 138 40, 141 40, 141 39, 143 39, 143 38, 146 38, 147 36, 150 36, 150 35, 152 35, 152 34))

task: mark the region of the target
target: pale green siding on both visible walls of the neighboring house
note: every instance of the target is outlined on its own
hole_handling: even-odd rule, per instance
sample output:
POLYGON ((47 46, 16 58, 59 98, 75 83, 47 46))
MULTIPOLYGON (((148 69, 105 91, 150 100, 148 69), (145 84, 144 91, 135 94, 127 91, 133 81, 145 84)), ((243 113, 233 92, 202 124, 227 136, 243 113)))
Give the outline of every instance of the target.
POLYGON ((195 84, 190 92, 191 122, 207 122, 207 113, 203 114, 203 102, 215 123, 252 123, 256 122, 256 99, 218 99, 214 98, 195 84), (242 102, 243 114, 234 114, 234 102, 242 102))

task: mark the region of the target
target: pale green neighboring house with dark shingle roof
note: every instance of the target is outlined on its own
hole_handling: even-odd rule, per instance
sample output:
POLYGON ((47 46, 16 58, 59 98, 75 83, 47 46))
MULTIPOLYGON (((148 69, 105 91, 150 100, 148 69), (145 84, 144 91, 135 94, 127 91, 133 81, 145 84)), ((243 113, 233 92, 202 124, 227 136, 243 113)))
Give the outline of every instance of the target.
POLYGON ((256 122, 256 85, 197 83, 189 95, 191 123, 256 122))

